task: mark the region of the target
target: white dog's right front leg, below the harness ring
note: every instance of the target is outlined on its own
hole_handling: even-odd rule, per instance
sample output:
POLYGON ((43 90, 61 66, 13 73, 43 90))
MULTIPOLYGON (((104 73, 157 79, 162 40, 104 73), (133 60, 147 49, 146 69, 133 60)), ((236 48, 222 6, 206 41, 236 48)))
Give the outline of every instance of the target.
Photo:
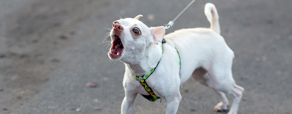
POLYGON ((175 97, 166 97, 166 114, 176 114, 181 100, 180 93, 175 97))

